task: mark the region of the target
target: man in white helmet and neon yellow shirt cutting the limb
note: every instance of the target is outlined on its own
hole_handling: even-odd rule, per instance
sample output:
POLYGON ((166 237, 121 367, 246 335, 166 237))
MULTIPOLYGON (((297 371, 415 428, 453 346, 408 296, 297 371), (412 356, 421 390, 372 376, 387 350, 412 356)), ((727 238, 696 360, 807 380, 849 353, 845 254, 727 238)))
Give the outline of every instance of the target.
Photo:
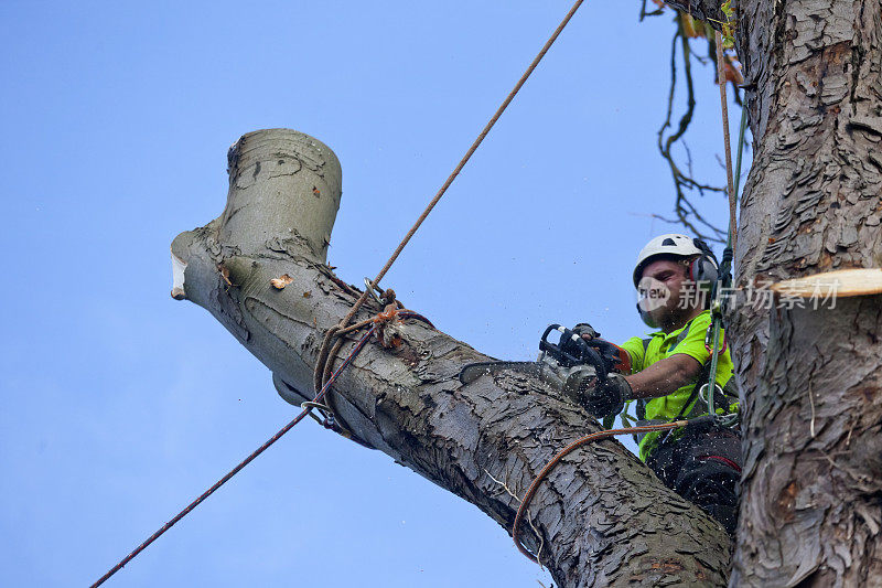
MULTIPOLYGON (((601 351, 611 375, 577 398, 598 418, 621 413, 636 402, 639 425, 695 418, 708 413, 701 394, 710 377, 709 289, 719 264, 701 239, 668 234, 641 250, 634 286, 643 321, 660 329, 633 336, 622 348, 599 339, 587 323, 573 331, 601 351), (627 357, 623 355, 627 355, 627 357), (622 362, 624 360, 624 362, 622 362), (613 364, 624 365, 614 373, 613 364)), ((719 354, 716 374, 718 413, 738 409, 729 350, 719 354)), ((738 521, 736 485, 741 474, 741 435, 712 423, 687 431, 655 431, 637 438, 639 457, 662 481, 717 518, 729 533, 738 521)))

